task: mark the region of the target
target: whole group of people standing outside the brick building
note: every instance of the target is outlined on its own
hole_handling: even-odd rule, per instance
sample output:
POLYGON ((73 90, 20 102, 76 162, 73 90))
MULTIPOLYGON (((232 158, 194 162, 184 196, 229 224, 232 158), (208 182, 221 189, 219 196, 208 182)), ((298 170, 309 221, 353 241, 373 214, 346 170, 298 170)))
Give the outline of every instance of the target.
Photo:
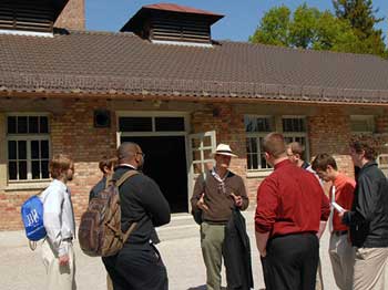
MULTIPOLYGON (((338 172, 333 156, 323 153, 312 165, 303 159, 303 146, 286 145, 279 133, 263 141, 264 158, 274 167, 258 186, 255 238, 267 290, 323 289, 319 239, 328 225, 329 257, 336 284, 341 290, 384 290, 388 260, 388 182, 378 168, 376 151, 368 142, 353 141, 349 154, 359 167, 357 180, 338 172), (323 183, 331 183, 329 194, 323 183)), ((249 199, 244 180, 229 170, 236 155, 226 144, 213 154, 215 164, 196 180, 191 205, 201 225, 201 248, 206 267, 206 288, 219 290, 224 259, 228 289, 253 289, 251 246, 241 210, 249 199), (198 218, 200 217, 200 218, 198 218)), ((135 143, 123 143, 116 158, 100 162, 103 178, 90 199, 110 178, 141 170, 144 153, 135 143), (115 165, 115 166, 114 166, 115 165), (113 169, 114 168, 114 169, 113 169)), ((57 155, 50 162, 53 178, 42 193, 42 245, 48 289, 75 289, 74 214, 67 183, 73 160, 57 155)), ((155 227, 170 222, 170 206, 150 177, 136 174, 119 188, 122 230, 137 222, 118 255, 103 257, 111 289, 169 289, 166 268, 155 245, 155 227)))

